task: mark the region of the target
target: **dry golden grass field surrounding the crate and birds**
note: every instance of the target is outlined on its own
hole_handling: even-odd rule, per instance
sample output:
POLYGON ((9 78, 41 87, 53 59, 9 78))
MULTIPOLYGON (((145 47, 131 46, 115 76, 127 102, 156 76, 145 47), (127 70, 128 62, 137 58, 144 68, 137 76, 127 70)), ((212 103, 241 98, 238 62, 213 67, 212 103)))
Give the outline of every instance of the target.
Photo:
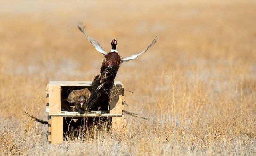
POLYGON ((255 1, 0 1, 0 152, 24 155, 255 155, 255 1), (103 56, 76 25, 128 56, 127 132, 48 144, 50 80, 90 81, 103 56))

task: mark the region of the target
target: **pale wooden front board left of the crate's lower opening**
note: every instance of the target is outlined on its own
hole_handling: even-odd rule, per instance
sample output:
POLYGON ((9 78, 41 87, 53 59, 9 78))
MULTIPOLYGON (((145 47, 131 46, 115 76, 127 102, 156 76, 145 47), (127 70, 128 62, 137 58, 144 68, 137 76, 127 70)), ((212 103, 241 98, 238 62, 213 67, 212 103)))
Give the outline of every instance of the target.
POLYGON ((63 117, 51 117, 51 143, 60 144, 63 142, 63 117))

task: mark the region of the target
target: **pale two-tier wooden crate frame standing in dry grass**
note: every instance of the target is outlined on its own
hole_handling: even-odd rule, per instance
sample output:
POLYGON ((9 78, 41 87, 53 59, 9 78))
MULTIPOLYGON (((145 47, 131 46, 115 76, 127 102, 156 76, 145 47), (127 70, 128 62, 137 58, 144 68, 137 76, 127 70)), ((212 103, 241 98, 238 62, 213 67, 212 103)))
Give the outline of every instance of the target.
POLYGON ((48 114, 48 140, 52 144, 63 142, 63 117, 111 117, 112 130, 121 130, 126 125, 124 109, 124 86, 120 81, 110 90, 108 112, 67 112, 61 110, 61 87, 92 87, 92 81, 50 81, 46 87, 46 112, 48 114))

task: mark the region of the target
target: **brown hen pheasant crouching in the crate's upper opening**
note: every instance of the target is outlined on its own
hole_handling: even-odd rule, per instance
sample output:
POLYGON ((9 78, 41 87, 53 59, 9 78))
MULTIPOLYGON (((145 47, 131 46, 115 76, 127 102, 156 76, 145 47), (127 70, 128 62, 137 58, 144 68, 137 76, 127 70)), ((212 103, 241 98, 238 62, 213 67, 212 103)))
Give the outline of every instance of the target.
POLYGON ((85 111, 85 102, 89 99, 91 92, 89 89, 80 89, 80 90, 73 90, 68 95, 67 101, 69 103, 74 103, 76 109, 80 112, 85 111))

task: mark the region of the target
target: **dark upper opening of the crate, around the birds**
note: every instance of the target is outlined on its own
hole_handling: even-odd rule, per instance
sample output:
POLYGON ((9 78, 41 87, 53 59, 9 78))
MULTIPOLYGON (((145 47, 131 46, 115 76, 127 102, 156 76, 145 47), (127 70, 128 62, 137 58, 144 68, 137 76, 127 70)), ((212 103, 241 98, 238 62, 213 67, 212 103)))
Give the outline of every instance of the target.
MULTIPOLYGON (((89 91, 92 91, 92 86, 62 86, 60 89, 60 96, 61 96, 61 112, 78 112, 76 109, 74 103, 69 103, 67 101, 68 95, 73 91, 73 90, 80 90, 80 89, 89 89, 89 91)), ((103 102, 100 103, 100 110, 98 108, 95 108, 94 110, 91 110, 91 113, 96 113, 96 112, 103 112, 103 113, 108 113, 109 112, 109 102, 103 102)))

